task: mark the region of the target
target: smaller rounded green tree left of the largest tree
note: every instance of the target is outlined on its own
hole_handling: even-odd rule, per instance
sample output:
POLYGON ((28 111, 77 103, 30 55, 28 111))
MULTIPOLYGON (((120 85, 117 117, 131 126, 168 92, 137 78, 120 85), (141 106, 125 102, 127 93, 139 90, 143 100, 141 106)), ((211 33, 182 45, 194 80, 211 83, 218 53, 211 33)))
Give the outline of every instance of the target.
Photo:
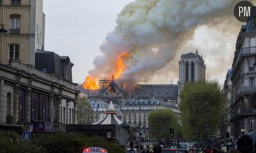
MULTIPOLYGON (((165 138, 169 140, 171 138, 169 128, 173 127, 174 131, 177 131, 178 118, 172 109, 159 109, 149 113, 148 124, 154 129, 151 131, 151 138, 165 138)), ((176 135, 176 132, 174 132, 176 135)), ((165 141, 165 146, 169 145, 168 141, 165 141)))

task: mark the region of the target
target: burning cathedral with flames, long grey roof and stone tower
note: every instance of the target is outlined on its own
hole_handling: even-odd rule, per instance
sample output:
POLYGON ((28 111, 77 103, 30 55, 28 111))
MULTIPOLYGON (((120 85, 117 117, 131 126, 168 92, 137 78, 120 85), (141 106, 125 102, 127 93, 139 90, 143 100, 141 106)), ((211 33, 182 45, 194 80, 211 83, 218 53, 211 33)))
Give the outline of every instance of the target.
POLYGON ((139 99, 157 99, 161 102, 179 104, 178 95, 184 84, 205 80, 205 69, 203 57, 196 50, 195 53, 181 55, 178 84, 136 84, 132 90, 126 91, 118 77, 101 77, 96 81, 90 80, 87 76, 86 81, 79 85, 79 90, 86 93, 90 101, 109 103, 109 98, 113 97, 113 104, 117 106, 124 106, 127 101, 139 99))

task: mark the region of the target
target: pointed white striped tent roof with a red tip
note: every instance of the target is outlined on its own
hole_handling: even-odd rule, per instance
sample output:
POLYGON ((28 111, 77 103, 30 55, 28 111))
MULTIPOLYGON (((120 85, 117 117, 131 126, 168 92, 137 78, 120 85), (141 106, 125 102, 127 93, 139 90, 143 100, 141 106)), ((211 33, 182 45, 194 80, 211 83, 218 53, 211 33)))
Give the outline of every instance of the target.
POLYGON ((102 125, 102 124, 116 124, 116 125, 120 125, 120 124, 123 123, 123 121, 121 121, 117 117, 117 114, 116 114, 117 111, 116 111, 115 107, 113 106, 112 100, 113 100, 113 98, 110 98, 109 108, 106 111, 107 115, 102 120, 94 123, 94 125, 96 125, 96 124, 98 124, 98 125, 99 124, 100 125, 102 125))

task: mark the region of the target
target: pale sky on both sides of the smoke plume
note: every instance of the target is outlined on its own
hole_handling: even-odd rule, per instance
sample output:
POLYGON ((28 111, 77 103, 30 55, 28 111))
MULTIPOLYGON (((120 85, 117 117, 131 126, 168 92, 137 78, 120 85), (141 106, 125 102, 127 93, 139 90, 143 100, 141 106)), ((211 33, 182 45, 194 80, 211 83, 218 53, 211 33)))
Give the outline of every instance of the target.
MULTIPOLYGON (((132 1, 44 0, 44 49, 69 56, 75 64, 72 68, 73 82, 83 83, 88 71, 94 68, 94 58, 102 54, 99 47, 117 26, 117 15, 132 1)), ((242 24, 230 16, 221 22, 197 26, 188 40, 179 46, 173 60, 152 73, 151 80, 141 83, 169 84, 171 80, 177 83, 181 54, 195 52, 196 49, 205 61, 206 75, 223 83, 233 62, 237 34, 242 24)))

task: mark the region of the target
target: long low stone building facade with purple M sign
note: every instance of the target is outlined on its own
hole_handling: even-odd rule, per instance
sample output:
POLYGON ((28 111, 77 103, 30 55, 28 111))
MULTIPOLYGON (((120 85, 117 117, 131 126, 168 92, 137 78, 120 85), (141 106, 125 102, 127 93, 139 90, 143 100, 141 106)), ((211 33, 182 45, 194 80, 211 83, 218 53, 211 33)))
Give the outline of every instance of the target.
POLYGON ((34 121, 52 122, 56 129, 76 124, 77 96, 77 84, 20 60, 0 64, 0 129, 33 131, 34 121))

